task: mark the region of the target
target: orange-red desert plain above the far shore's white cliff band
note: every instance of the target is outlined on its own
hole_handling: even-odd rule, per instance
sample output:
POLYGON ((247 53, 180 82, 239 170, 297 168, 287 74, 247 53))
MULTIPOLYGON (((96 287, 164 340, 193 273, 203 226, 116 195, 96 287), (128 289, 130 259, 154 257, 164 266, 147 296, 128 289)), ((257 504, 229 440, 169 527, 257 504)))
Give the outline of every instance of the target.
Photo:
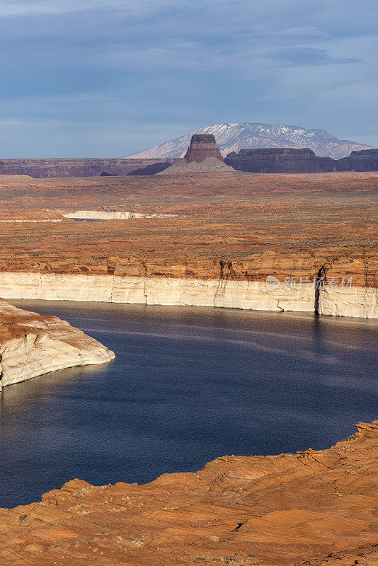
POLYGON ((377 173, 0 177, 0 220, 43 209, 178 215, 0 222, 0 270, 264 281, 324 267, 377 287, 377 187, 377 173))

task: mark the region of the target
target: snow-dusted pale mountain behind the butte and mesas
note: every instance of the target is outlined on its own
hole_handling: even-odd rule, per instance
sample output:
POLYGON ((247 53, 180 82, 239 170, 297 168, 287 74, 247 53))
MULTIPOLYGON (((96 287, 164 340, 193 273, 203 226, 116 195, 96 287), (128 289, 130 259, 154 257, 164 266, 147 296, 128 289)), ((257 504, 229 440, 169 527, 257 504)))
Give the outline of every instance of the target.
POLYGON ((371 149, 371 146, 354 141, 338 139, 323 129, 301 128, 297 126, 273 124, 214 124, 197 129, 185 136, 166 141, 130 158, 183 157, 193 134, 214 134, 223 156, 231 151, 251 147, 309 147, 318 156, 340 159, 351 151, 371 149))

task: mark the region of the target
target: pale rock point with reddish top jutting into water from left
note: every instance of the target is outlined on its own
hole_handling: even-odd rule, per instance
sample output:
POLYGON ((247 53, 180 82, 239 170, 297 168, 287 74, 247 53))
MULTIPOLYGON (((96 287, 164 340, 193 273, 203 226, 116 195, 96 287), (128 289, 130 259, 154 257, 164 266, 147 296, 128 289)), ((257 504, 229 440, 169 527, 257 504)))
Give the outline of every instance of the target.
POLYGON ((40 316, 0 299, 0 391, 49 371, 103 364, 115 355, 55 316, 40 316))

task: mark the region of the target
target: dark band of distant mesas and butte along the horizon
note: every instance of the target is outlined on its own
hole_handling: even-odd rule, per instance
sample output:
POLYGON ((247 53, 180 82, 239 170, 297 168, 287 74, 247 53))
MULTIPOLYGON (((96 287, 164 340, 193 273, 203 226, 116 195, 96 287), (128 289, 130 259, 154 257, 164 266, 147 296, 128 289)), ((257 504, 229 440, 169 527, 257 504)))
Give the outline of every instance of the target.
MULTIPOLYGON (((213 136, 211 136, 213 138, 213 136)), ((185 154, 185 162, 215 157, 223 161, 217 144, 208 136, 196 136, 185 154)), ((155 175, 183 161, 180 158, 104 159, 2 159, 0 175, 30 175, 33 178, 96 177, 110 175, 155 175)), ((352 151, 341 159, 319 157, 309 148, 255 148, 232 151, 224 158, 228 166, 251 173, 322 173, 330 171, 378 171, 378 149, 352 151)))

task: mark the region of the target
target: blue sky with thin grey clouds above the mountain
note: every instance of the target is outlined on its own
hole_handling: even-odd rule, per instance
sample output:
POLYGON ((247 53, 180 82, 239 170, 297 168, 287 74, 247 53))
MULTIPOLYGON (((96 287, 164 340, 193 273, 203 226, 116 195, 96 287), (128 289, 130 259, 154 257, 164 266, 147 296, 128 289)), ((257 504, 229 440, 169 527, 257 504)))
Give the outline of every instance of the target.
POLYGON ((378 146, 377 0, 0 0, 0 159, 121 157, 222 122, 378 146))

